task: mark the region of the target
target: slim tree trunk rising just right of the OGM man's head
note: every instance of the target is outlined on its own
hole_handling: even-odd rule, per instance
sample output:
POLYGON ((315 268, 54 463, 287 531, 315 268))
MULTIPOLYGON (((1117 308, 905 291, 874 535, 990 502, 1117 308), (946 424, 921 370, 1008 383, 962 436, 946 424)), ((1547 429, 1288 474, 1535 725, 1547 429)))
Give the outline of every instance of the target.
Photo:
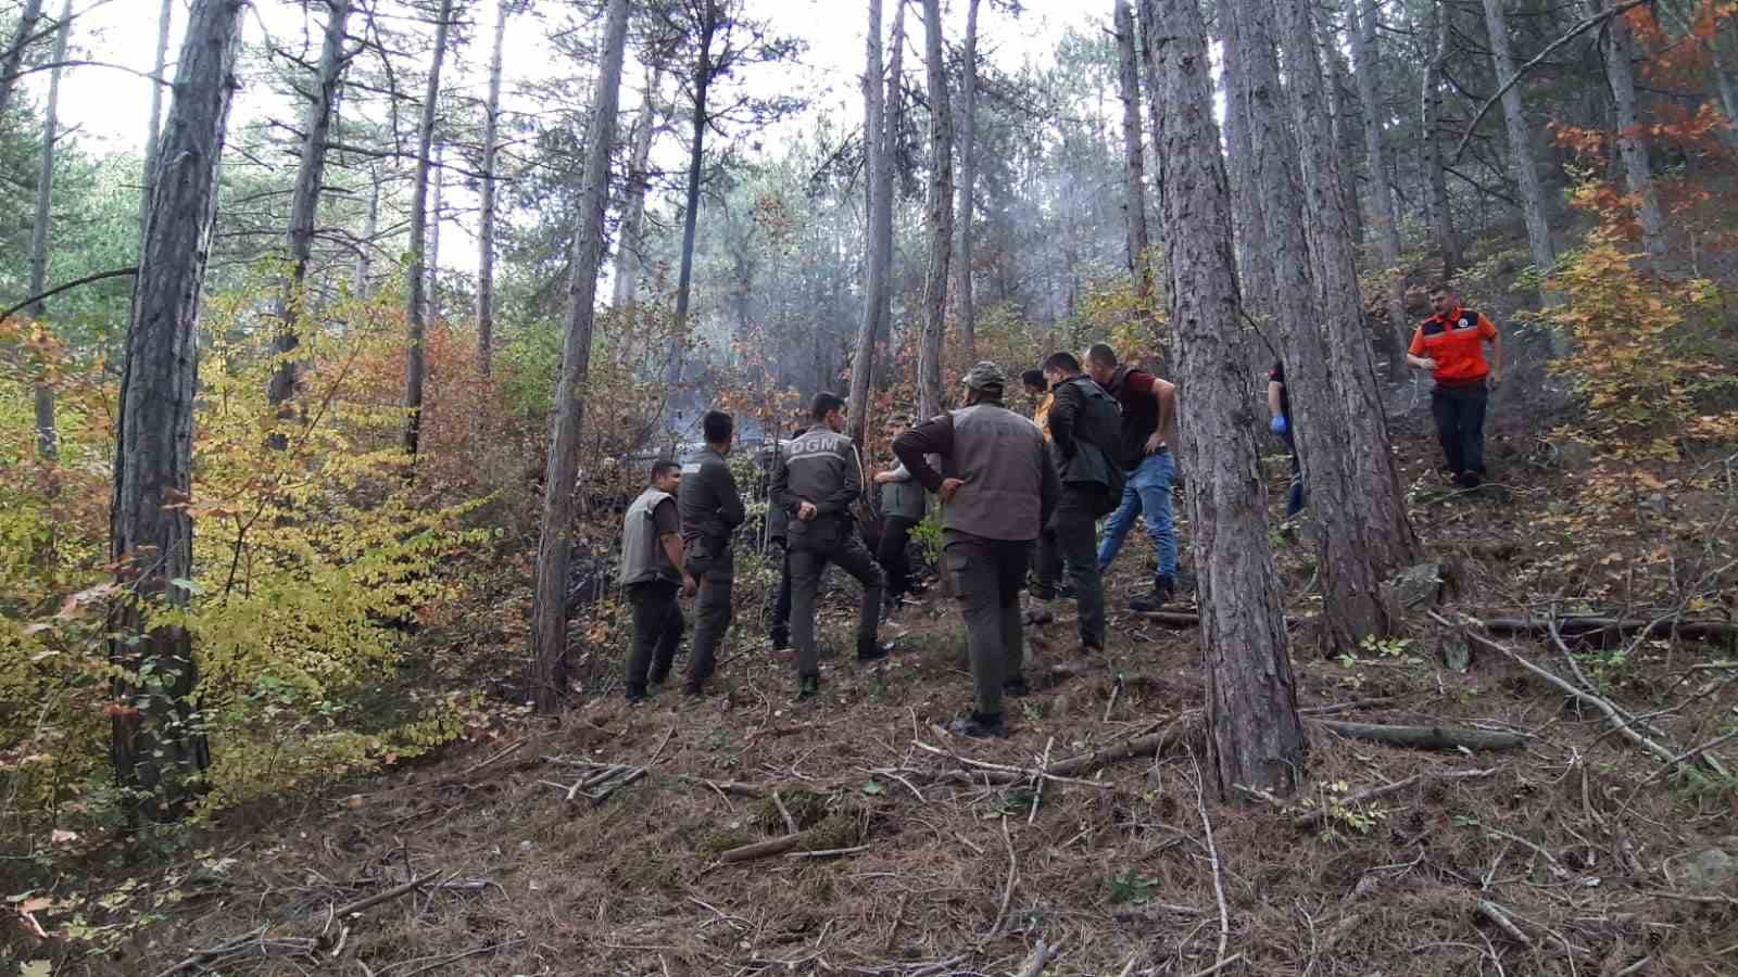
MULTIPOLYGON (((904 3, 904 0, 893 0, 904 3)), ((864 153, 869 170, 869 242, 864 249, 864 318, 857 327, 857 351, 852 355, 852 393, 846 426, 859 445, 869 424, 869 376, 874 372, 874 342, 881 323, 881 296, 886 294, 886 257, 881 240, 893 236, 893 162, 886 141, 886 101, 881 89, 881 0, 869 0, 867 64, 864 68, 864 153)))

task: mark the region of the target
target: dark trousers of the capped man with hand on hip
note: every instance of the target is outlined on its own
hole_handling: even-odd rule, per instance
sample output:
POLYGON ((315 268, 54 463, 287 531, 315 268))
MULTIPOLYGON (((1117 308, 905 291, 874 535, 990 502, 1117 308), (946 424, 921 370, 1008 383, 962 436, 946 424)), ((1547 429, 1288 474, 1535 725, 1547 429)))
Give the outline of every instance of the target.
POLYGON ((966 619, 966 652, 980 716, 999 716, 1003 683, 1022 678, 1020 588, 1031 553, 1031 539, 942 534, 942 572, 966 619))

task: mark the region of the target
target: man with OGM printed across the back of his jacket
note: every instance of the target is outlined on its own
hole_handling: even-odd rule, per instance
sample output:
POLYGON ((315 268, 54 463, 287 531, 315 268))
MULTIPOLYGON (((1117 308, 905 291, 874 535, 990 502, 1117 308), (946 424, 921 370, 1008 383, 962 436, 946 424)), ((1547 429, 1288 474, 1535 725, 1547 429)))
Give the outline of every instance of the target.
POLYGON ((772 504, 789 516, 791 548, 791 636, 796 643, 796 695, 808 699, 820 690, 820 652, 815 647, 815 591, 827 563, 838 563, 864 588, 857 617, 857 661, 886 652, 876 638, 881 619, 881 568, 864 548, 852 516, 862 495, 864 468, 857 445, 845 429, 845 400, 815 395, 810 414, 815 426, 793 438, 773 469, 772 504))

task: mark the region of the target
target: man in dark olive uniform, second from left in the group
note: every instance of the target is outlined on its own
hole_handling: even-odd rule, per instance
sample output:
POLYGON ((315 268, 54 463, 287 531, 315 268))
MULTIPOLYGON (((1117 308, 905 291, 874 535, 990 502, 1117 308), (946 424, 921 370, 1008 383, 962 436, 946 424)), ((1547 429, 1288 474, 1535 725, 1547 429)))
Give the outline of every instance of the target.
POLYGON ((737 532, 747 511, 737 492, 737 476, 730 473, 725 455, 735 438, 735 421, 723 410, 707 410, 700 419, 706 450, 699 461, 681 469, 681 544, 687 574, 699 581, 699 619, 693 628, 693 650, 688 655, 687 694, 699 695, 713 676, 718 661, 718 643, 730 629, 730 588, 737 565, 730 553, 730 535, 737 532))

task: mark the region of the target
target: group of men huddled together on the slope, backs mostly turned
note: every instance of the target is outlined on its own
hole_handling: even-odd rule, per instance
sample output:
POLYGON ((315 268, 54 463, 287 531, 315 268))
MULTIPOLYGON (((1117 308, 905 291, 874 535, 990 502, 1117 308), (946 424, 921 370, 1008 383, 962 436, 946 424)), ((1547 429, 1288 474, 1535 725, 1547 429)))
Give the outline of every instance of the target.
MULTIPOLYGON (((925 494, 942 501, 940 570, 965 615, 975 685, 972 713, 954 721, 963 735, 1005 735, 1003 695, 1027 690, 1020 593, 1034 549, 1034 593, 1053 598, 1065 575, 1079 605, 1083 652, 1104 650, 1102 574, 1135 516, 1145 516, 1158 546, 1152 595, 1135 608, 1168 601, 1175 588, 1170 445, 1177 388, 1118 363, 1104 344, 1088 351, 1085 365, 1071 353, 1055 353, 1039 374, 1046 389, 1034 422, 1006 407, 1003 370, 977 363, 963 377, 965 405, 902 433, 893 442, 900 466, 876 476, 886 520, 881 565, 890 570, 895 598, 912 586, 904 549, 923 518, 925 494), (1100 542, 1097 523, 1105 516, 1100 542)), ((775 647, 794 640, 799 699, 820 688, 815 596, 829 563, 862 586, 857 659, 886 655, 878 640, 886 581, 852 515, 866 480, 857 447, 843 433, 845 409, 833 393, 815 396, 813 424, 773 457, 768 535, 786 548, 787 579, 772 638, 775 647)), ((704 690, 730 626, 730 535, 746 515, 725 462, 733 424, 714 410, 702 419, 702 431, 700 461, 653 464, 652 483, 624 520, 620 579, 634 621, 626 692, 633 702, 669 676, 685 629, 678 593, 699 595, 685 687, 690 695, 704 690)))

